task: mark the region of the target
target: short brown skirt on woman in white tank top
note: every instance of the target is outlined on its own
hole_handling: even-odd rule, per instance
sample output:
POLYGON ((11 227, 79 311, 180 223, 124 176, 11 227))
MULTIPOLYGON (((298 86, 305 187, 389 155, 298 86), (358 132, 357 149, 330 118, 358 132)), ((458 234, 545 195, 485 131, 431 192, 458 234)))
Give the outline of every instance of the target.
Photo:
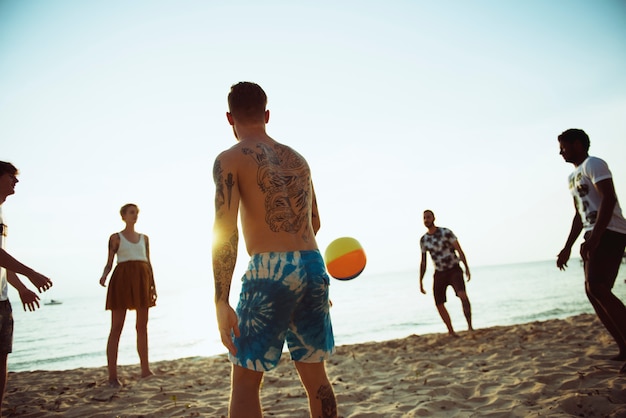
POLYGON ((145 261, 125 261, 115 266, 106 309, 140 309, 156 305, 152 269, 145 261))

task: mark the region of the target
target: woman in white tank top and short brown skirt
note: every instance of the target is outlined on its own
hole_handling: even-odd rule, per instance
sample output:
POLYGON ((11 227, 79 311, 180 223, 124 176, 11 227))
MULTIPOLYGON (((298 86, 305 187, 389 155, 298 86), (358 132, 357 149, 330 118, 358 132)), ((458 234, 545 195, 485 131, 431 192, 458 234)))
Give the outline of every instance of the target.
POLYGON ((156 288, 150 264, 148 236, 135 231, 139 208, 134 203, 120 210, 126 227, 109 237, 107 264, 100 277, 105 286, 106 278, 117 256, 117 265, 109 281, 106 309, 111 311, 111 332, 107 342, 107 365, 109 385, 121 386, 117 376, 117 352, 127 310, 137 311, 137 352, 141 364, 141 377, 152 375, 148 362, 148 309, 156 304, 156 288))

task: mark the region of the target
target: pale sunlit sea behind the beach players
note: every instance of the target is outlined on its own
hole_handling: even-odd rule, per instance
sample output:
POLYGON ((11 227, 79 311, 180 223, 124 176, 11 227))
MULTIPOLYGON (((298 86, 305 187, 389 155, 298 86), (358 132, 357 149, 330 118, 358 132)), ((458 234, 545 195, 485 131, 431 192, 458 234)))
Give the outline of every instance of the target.
MULTIPOLYGON (((623 267, 614 293, 626 302, 625 280, 623 267)), ((232 293, 236 301, 235 282, 232 293)), ((582 266, 577 260, 571 260, 566 271, 558 270, 554 261, 474 267, 467 283, 474 328, 592 313, 583 282, 582 266)), ((354 280, 332 279, 331 316, 336 344, 447 332, 433 300, 431 266, 424 287, 426 295, 420 293, 418 271, 370 275, 366 269, 354 280)), ((453 326, 463 331, 467 324, 461 303, 452 289, 447 295, 453 326)), ((62 304, 24 312, 19 297, 11 294, 15 333, 10 371, 106 365, 110 312, 104 310, 105 291, 67 297, 54 293, 54 297, 62 304)), ((42 301, 47 299, 42 296, 42 301)), ((119 364, 139 362, 134 324, 135 313, 129 311, 120 341, 119 364)), ((159 292, 157 306, 150 310, 149 347, 152 362, 225 353, 217 332, 210 280, 159 292)))

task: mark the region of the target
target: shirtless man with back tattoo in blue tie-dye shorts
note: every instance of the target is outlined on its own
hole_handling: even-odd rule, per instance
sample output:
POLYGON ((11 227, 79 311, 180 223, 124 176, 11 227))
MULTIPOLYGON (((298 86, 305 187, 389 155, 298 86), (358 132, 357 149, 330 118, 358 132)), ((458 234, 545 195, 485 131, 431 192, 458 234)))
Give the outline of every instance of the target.
POLYGON ((266 133, 267 96, 254 83, 231 87, 226 117, 237 143, 215 160, 213 274, 217 323, 233 363, 231 417, 261 417, 263 373, 287 341, 311 416, 336 417, 325 361, 334 352, 320 220, 306 160, 266 133), (236 311, 230 286, 241 217, 250 262, 236 311))

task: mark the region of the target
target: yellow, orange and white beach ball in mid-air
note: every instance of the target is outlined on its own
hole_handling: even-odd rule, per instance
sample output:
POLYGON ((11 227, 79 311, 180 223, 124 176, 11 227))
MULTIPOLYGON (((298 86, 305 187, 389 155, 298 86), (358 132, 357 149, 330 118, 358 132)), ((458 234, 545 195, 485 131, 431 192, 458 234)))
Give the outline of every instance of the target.
POLYGON ((337 238, 324 253, 328 273, 338 280, 356 278, 365 268, 365 251, 359 241, 350 237, 337 238))

